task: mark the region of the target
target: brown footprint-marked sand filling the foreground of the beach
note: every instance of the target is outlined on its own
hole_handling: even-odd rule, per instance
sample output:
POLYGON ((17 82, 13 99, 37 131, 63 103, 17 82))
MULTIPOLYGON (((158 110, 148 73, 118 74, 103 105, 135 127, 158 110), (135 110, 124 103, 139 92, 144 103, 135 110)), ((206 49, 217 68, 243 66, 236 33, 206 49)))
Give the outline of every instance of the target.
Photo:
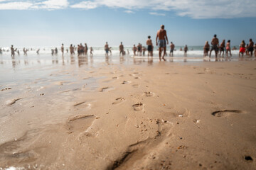
POLYGON ((256 169, 255 85, 256 61, 240 61, 104 64, 6 86, 0 169, 256 169))

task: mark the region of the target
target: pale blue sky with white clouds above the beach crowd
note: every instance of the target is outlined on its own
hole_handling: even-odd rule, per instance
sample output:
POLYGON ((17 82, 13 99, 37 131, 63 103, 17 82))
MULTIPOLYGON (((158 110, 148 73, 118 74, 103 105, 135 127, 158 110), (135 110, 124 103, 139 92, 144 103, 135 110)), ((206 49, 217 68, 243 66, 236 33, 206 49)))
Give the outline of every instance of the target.
POLYGON ((176 45, 204 45, 214 34, 256 42, 252 0, 0 0, 0 47, 133 45, 154 40, 161 24, 176 45))

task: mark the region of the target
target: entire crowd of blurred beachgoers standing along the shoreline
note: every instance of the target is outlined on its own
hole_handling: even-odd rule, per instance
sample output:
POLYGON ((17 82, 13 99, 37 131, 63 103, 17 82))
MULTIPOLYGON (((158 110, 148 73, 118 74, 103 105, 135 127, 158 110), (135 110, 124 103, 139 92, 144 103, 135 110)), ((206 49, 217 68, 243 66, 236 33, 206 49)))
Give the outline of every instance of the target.
MULTIPOLYGON (((165 56, 166 54, 166 46, 169 44, 168 38, 167 38, 167 33, 166 30, 164 29, 164 25, 161 25, 160 29, 157 31, 156 33, 156 46, 158 47, 158 51, 159 51, 159 60, 164 60, 165 61, 165 56), (163 55, 162 55, 163 52, 163 55)), ((223 40, 220 44, 219 44, 219 40, 217 38, 217 35, 213 36, 213 39, 211 40, 211 42, 206 41, 206 44, 203 47, 203 56, 211 56, 212 51, 214 50, 215 52, 215 57, 218 56, 224 56, 225 55, 228 57, 228 55, 230 55, 230 57, 232 56, 231 54, 231 45, 230 45, 230 40, 227 41, 227 43, 225 43, 225 40, 223 40), (210 47, 210 44, 212 45, 210 47)), ((146 40, 146 45, 142 46, 141 43, 139 43, 138 45, 133 45, 132 47, 132 52, 133 55, 136 56, 145 56, 146 51, 148 52, 147 56, 148 57, 153 57, 153 51, 154 51, 154 45, 153 42, 151 40, 151 36, 148 36, 148 39, 146 40)), ((32 49, 31 49, 32 50, 32 49)), ((60 47, 61 53, 62 55, 64 55, 64 51, 65 51, 65 47, 62 44, 60 47)), ((78 56, 82 56, 82 55, 87 55, 88 53, 88 47, 87 44, 85 43, 85 45, 83 46, 82 43, 80 43, 80 45, 78 45, 77 47, 75 47, 75 45, 71 44, 69 47, 69 51, 70 51, 70 55, 75 55, 75 51, 78 52, 78 56)), ((109 47, 108 43, 105 43, 104 46, 104 50, 105 50, 105 56, 108 57, 109 53, 110 55, 112 55, 112 47, 109 47)), ((193 49, 191 49, 193 50, 193 49)), ((235 47, 233 47, 232 50, 237 50, 235 47)), ((0 55, 2 54, 4 50, 1 49, 0 47, 0 55)), ((36 53, 39 55, 39 51, 40 49, 38 49, 36 51, 36 53)), ((170 53, 169 56, 173 57, 174 56, 174 51, 175 51, 175 45, 173 42, 171 42, 170 44, 170 53)), ((182 47, 180 48, 180 51, 182 51, 182 47)), ((184 56, 186 57, 186 54, 188 52, 188 46, 185 45, 185 47, 183 48, 184 51, 184 56)), ((7 52, 9 52, 9 50, 7 50, 7 52)), ((15 52, 17 52, 17 54, 19 55, 19 51, 16 49, 14 49, 14 45, 11 45, 11 57, 14 57, 15 52)), ((26 49, 25 47, 23 48, 23 54, 27 55, 28 49, 26 49)), ((68 53, 68 48, 66 49, 66 52, 68 53)), ((254 42, 252 41, 252 39, 249 40, 249 43, 247 45, 245 45, 245 40, 242 40, 241 44, 240 44, 240 49, 239 49, 239 57, 245 54, 248 55, 250 57, 252 57, 252 54, 254 53, 255 57, 256 57, 256 44, 254 45, 254 42)), ((127 54, 129 55, 129 50, 127 49, 127 54)), ((58 55, 58 48, 55 47, 55 49, 51 49, 51 55, 58 55)), ((119 56, 124 56, 126 55, 126 51, 124 50, 124 45, 122 44, 122 42, 119 45, 119 56)), ((92 47, 90 47, 90 56, 93 56, 93 49, 92 47)))

